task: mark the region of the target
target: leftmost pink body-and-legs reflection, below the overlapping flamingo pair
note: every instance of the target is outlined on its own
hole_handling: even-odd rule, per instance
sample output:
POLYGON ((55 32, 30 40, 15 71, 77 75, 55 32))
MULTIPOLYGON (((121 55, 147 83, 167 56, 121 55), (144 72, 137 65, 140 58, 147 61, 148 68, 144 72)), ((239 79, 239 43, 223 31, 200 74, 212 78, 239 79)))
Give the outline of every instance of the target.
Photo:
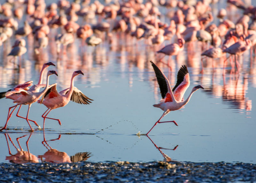
POLYGON ((23 137, 25 137, 25 136, 27 136, 27 135, 23 135, 23 136, 21 136, 21 137, 16 138, 17 143, 18 143, 18 145, 19 145, 20 148, 17 148, 17 147, 15 146, 15 144, 13 143, 13 141, 12 141, 12 139, 11 139, 11 137, 10 137, 10 135, 9 135, 8 133, 7 133, 7 134, 4 134, 4 135, 5 135, 5 138, 6 138, 6 142, 7 142, 9 154, 11 155, 11 156, 6 156, 5 160, 9 160, 11 163, 19 163, 19 164, 21 164, 21 163, 38 163, 38 162, 39 162, 39 161, 38 161, 38 158, 37 158, 35 155, 31 154, 31 153, 29 152, 29 148, 28 148, 28 141, 29 141, 29 139, 30 139, 32 133, 30 133, 30 135, 29 135, 29 137, 28 137, 28 140, 26 141, 26 145, 27 145, 28 151, 24 151, 24 150, 22 149, 21 145, 20 145, 20 142, 19 142, 19 139, 20 139, 20 138, 23 138, 23 137), (9 138, 9 141, 12 143, 13 147, 17 150, 17 153, 16 153, 16 154, 12 154, 12 153, 11 153, 10 146, 9 146, 9 142, 8 142, 8 138, 7 138, 7 137, 9 138))

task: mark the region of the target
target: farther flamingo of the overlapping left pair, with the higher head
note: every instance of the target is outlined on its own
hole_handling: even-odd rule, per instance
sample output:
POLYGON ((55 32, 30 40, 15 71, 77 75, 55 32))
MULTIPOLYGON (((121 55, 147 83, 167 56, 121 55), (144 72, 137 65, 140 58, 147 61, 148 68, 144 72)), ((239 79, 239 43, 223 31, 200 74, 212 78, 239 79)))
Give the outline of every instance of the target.
MULTIPOLYGON (((24 90, 28 90, 28 91, 30 91, 30 92, 39 92, 40 88, 45 87, 45 84, 42 84, 42 82, 43 82, 43 75, 44 75, 44 71, 46 70, 46 68, 48 68, 50 65, 55 66, 52 62, 44 63, 44 65, 43 65, 43 67, 42 67, 42 69, 41 69, 41 72, 40 72, 40 76, 39 76, 38 83, 37 83, 37 84, 34 84, 31 88, 28 88, 28 86, 31 86, 33 81, 28 81, 28 82, 23 83, 23 84, 18 84, 18 85, 16 85, 14 88, 8 90, 8 91, 16 91, 15 93, 9 95, 9 96, 8 96, 8 99, 12 99, 12 100, 18 99, 18 98, 20 97, 20 94, 17 93, 17 91, 18 91, 20 88, 21 88, 21 89, 24 89, 24 90)), ((1 97, 0 97, 0 98, 5 97, 5 94, 6 94, 6 92, 8 92, 8 91, 1 92, 1 93, 0 93, 1 97)), ((20 108, 21 108, 21 106, 22 106, 22 105, 20 105, 20 108)), ((14 110, 16 109, 16 107, 17 107, 17 105, 12 106, 12 107, 9 108, 7 122, 9 121, 9 118, 12 116, 12 113, 14 112, 14 110), (12 109, 13 107, 14 107, 14 109, 12 110, 12 112, 11 112, 11 114, 10 114, 10 111, 11 111, 11 109, 12 109), (9 114, 10 114, 10 115, 9 115, 9 114)), ((20 117, 20 118, 23 118, 23 119, 26 119, 26 118, 24 118, 24 117, 22 117, 22 116, 19 116, 20 108, 19 108, 19 110, 18 110, 16 116, 17 116, 17 117, 20 117)), ((28 119, 28 120, 34 122, 34 123, 36 124, 36 126, 38 126, 37 123, 36 123, 36 121, 30 120, 30 119, 28 119)), ((6 122, 6 123, 7 123, 7 122, 6 122)), ((1 130, 2 130, 2 129, 1 129, 1 130)))

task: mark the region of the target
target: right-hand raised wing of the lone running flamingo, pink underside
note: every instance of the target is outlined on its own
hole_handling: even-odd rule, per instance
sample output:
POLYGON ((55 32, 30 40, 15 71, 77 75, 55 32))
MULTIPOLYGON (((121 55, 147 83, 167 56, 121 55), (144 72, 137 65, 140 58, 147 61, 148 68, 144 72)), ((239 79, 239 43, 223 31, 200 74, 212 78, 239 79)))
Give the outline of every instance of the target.
POLYGON ((173 95, 177 101, 181 102, 189 84, 190 84, 190 81, 189 81, 188 68, 186 65, 182 65, 177 74, 177 82, 174 88, 172 89, 173 95))

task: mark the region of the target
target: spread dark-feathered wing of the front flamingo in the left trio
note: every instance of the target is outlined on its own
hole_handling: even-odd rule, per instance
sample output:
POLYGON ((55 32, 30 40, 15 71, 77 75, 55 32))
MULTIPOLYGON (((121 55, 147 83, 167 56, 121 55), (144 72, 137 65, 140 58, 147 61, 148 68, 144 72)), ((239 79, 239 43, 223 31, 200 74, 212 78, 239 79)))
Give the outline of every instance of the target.
MULTIPOLYGON (((65 91, 65 94, 68 93, 69 91, 69 88, 67 88, 66 90, 63 90, 65 91)), ((61 92, 63 92, 61 91, 61 92)), ((76 102, 78 104, 90 104, 92 103, 90 100, 89 97, 85 96, 84 93, 82 93, 82 91, 78 90, 76 87, 74 87, 74 90, 73 90, 73 93, 71 95, 71 98, 70 98, 71 101, 73 102, 76 102)))

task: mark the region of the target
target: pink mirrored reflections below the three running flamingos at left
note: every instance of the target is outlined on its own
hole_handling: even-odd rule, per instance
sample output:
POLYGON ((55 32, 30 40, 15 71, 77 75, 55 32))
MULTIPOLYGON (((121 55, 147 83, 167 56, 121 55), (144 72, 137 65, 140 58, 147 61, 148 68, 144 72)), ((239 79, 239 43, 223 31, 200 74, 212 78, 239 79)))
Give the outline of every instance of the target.
POLYGON ((16 145, 13 143, 13 141, 12 141, 12 139, 11 139, 11 137, 8 133, 5 133, 4 135, 5 135, 5 138, 6 138, 9 154, 11 155, 11 156, 6 156, 5 160, 9 160, 9 162, 11 162, 11 163, 18 163, 18 164, 21 164, 21 163, 39 163, 39 159, 41 160, 41 162, 76 163, 76 162, 80 162, 80 161, 86 161, 89 157, 92 156, 90 152, 78 152, 75 155, 69 157, 66 152, 60 152, 56 149, 53 149, 48 144, 48 142, 50 142, 50 141, 60 140, 61 135, 59 135, 59 137, 56 138, 56 139, 46 140, 45 139, 45 134, 44 134, 44 140, 42 141, 42 144, 47 149, 47 151, 44 153, 44 155, 38 155, 36 157, 35 155, 30 153, 29 148, 28 148, 28 141, 30 140, 30 137, 31 137, 32 133, 29 134, 28 140, 26 141, 28 151, 24 151, 22 149, 22 146, 20 145, 20 142, 19 142, 19 139, 21 139, 21 138, 23 138, 27 135, 23 135, 23 136, 20 136, 20 137, 16 138, 16 141, 19 145, 19 148, 16 147, 16 145), (12 154, 11 149, 10 149, 10 145, 9 145, 9 141, 12 143, 13 147, 17 150, 16 154, 12 154))

